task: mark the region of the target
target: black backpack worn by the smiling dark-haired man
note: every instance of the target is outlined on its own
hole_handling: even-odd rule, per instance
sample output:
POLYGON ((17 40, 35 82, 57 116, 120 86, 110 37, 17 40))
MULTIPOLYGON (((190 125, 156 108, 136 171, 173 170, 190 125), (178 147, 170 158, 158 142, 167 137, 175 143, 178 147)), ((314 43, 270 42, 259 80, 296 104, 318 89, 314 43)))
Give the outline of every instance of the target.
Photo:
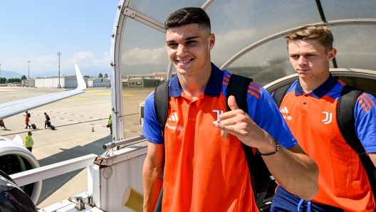
MULTIPOLYGON (((228 98, 230 95, 233 95, 236 100, 236 104, 241 110, 248 113, 247 107, 247 91, 249 83, 251 83, 251 78, 245 78, 241 75, 231 75, 229 80, 229 85, 227 86, 227 95, 228 98)), ((169 84, 168 81, 160 84, 155 88, 154 94, 154 107, 155 113, 157 115, 158 123, 161 127, 161 134, 164 134, 164 126, 167 121, 167 112, 169 105, 169 84)), ((227 105, 227 111, 230 111, 229 105, 227 105)), ((263 199, 266 196, 268 191, 269 182, 271 181, 271 174, 266 166, 265 162, 261 156, 254 154, 252 147, 246 146, 243 144, 244 153, 246 154, 246 160, 249 167, 249 173, 251 174, 251 185, 254 191, 254 196, 256 200, 256 205, 258 207, 262 206, 263 199)), ((163 172, 160 176, 163 179, 163 172)), ((273 184, 276 186, 275 184, 273 184)), ((275 187, 274 187, 275 188, 275 187)), ((269 191, 273 188, 270 189, 269 191)), ((160 196, 155 206, 155 211, 162 211, 162 197, 163 197, 163 188, 160 191, 160 196)))

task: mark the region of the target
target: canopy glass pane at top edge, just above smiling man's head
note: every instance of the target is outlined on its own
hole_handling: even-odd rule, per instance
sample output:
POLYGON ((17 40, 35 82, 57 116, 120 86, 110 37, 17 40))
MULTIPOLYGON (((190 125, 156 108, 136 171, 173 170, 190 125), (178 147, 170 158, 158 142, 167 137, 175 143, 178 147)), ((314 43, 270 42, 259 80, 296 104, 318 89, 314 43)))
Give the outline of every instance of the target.
POLYGON ((189 0, 189 1, 176 1, 176 0, 164 0, 164 1, 150 1, 150 0, 133 0, 131 9, 140 11, 142 14, 150 16, 161 23, 168 14, 181 9, 183 7, 200 7, 205 3, 205 0, 189 0), (163 2, 163 3, 162 3, 163 2))

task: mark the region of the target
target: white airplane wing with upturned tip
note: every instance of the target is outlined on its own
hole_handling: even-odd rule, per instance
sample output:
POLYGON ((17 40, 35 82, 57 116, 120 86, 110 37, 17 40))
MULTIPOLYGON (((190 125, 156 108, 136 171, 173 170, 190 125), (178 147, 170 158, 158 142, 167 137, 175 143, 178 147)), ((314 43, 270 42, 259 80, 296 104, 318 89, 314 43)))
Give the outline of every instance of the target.
POLYGON ((77 83, 78 83, 78 86, 75 90, 56 92, 53 94, 41 95, 38 97, 31 97, 25 100, 17 100, 13 102, 6 102, 4 104, 0 104, 0 120, 3 120, 7 117, 11 117, 12 115, 17 115, 21 112, 34 109, 36 107, 47 105, 51 102, 63 100, 67 97, 71 97, 73 95, 78 95, 80 93, 85 92, 86 83, 85 83, 85 80, 83 80, 83 76, 80 72, 80 69, 78 68, 78 65, 76 64, 75 64, 75 75, 77 77, 77 83))

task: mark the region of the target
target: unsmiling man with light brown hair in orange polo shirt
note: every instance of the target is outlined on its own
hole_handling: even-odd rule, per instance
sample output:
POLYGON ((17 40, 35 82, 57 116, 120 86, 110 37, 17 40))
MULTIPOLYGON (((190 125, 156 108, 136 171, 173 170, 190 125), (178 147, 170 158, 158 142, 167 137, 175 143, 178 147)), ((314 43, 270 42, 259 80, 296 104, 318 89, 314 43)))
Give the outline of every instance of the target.
MULTIPOLYGON (((337 53, 326 26, 305 26, 287 36, 290 62, 298 80, 288 88, 280 108, 304 152, 318 164, 320 191, 303 201, 278 186, 271 211, 375 211, 364 167, 338 127, 338 101, 345 83, 333 78, 329 62, 337 53)), ((373 164, 376 161, 375 97, 360 93, 354 110, 355 130, 373 164)))

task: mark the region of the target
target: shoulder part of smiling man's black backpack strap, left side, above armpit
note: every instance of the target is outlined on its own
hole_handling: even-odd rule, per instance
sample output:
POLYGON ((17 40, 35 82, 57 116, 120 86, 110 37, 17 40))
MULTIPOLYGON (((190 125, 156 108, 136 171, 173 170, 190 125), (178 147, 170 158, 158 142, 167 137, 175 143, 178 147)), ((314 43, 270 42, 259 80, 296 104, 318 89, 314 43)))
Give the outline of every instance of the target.
POLYGON ((154 92, 154 108, 157 115, 158 123, 160 123, 161 134, 164 134, 164 125, 167 121, 168 98, 169 98, 169 82, 164 82, 155 88, 154 92))

